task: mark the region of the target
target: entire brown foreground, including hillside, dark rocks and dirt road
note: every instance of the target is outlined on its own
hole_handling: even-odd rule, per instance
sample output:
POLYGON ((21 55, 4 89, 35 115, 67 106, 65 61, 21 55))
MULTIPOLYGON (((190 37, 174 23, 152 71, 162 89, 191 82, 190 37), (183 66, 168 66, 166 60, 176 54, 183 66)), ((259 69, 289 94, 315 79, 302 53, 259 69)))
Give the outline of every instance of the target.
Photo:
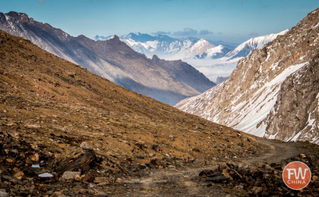
POLYGON ((318 195, 318 146, 260 139, 120 87, 0 31, 0 195, 318 195))

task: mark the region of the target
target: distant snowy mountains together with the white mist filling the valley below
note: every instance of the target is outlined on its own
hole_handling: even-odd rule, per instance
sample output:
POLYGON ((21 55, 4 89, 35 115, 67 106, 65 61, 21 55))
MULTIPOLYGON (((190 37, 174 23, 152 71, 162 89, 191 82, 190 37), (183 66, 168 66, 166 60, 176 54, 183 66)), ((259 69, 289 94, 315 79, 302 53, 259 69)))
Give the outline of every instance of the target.
MULTIPOLYGON (((202 71, 210 80, 222 82, 236 67, 237 61, 247 57, 253 50, 283 35, 269 34, 251 38, 241 44, 223 41, 210 41, 194 37, 171 38, 167 35, 152 36, 142 33, 130 33, 119 36, 120 40, 134 51, 151 58, 156 55, 165 60, 182 60, 202 71)), ((107 40, 112 36, 98 36, 93 40, 107 40)))

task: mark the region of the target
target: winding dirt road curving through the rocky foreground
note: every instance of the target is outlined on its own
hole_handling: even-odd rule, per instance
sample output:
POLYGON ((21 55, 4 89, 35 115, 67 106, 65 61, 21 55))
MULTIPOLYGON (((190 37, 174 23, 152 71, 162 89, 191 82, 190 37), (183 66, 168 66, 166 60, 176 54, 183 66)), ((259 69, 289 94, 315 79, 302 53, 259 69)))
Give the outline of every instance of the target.
MULTIPOLYGON (((235 159, 229 162, 239 166, 255 163, 279 162, 283 159, 307 153, 307 148, 302 143, 284 143, 277 140, 257 139, 262 144, 261 155, 235 159)), ((216 163, 217 164, 217 163, 216 163)), ((112 191, 120 195, 133 196, 231 196, 228 188, 219 184, 207 187, 199 181, 199 173, 204 169, 214 169, 217 165, 200 168, 168 168, 148 171, 140 178, 128 177, 120 187, 112 191)))

